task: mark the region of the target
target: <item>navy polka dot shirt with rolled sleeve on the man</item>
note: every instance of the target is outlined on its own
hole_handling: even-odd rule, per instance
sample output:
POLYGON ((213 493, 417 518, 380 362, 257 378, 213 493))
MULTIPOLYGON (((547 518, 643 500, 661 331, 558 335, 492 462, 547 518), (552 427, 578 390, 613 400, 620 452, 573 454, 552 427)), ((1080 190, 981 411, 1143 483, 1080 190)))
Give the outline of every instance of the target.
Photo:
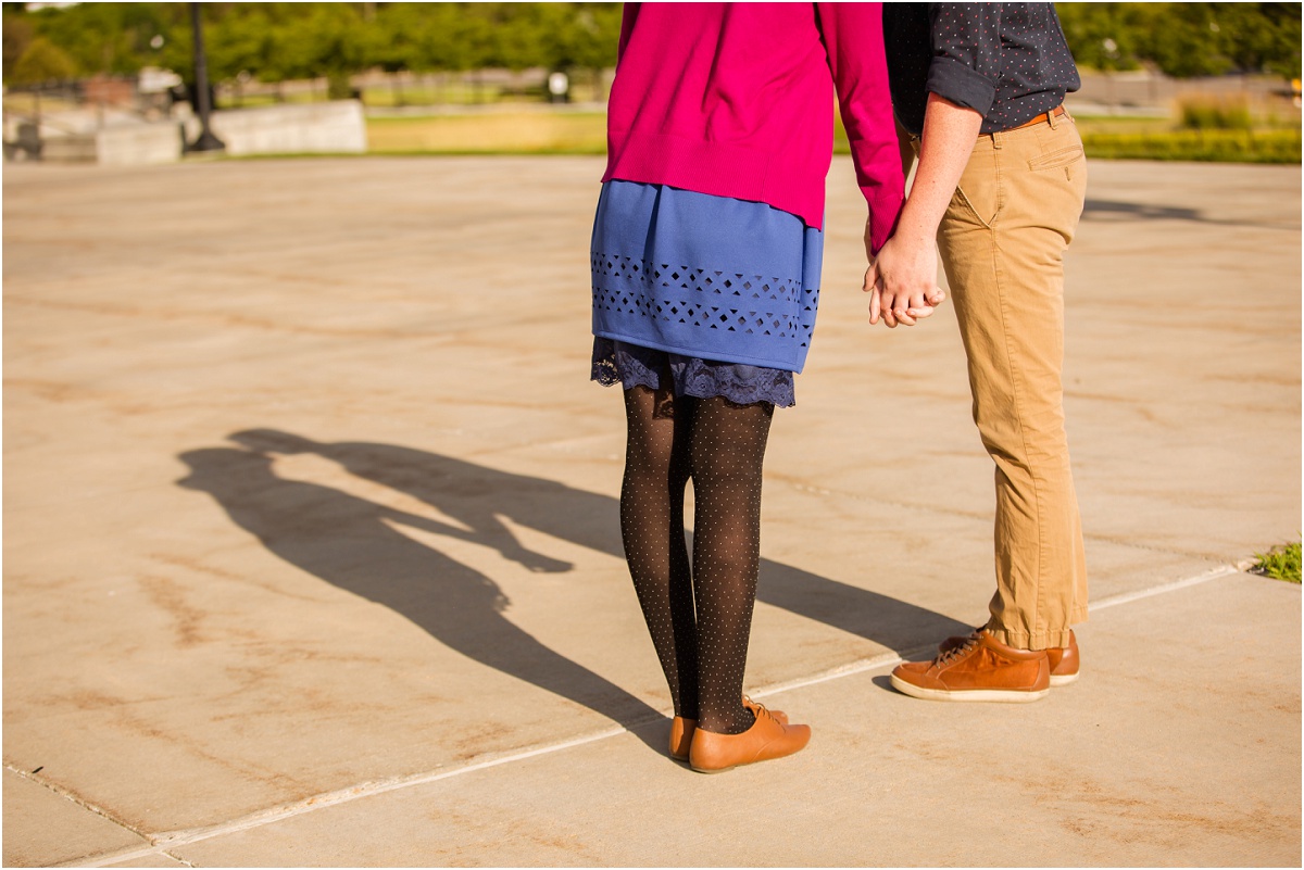
POLYGON ((915 134, 928 92, 978 111, 995 133, 1081 87, 1052 3, 884 3, 883 42, 893 108, 915 134))

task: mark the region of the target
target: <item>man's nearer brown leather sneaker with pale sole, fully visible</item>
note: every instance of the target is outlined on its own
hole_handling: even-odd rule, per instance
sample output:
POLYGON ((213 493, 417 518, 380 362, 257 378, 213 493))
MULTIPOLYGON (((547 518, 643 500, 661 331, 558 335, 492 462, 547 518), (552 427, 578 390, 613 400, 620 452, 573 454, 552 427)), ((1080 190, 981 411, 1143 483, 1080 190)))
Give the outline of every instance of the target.
POLYGON ((931 701, 1037 701, 1051 690, 1050 658, 1046 650, 1016 650, 981 630, 932 662, 898 664, 892 685, 931 701))

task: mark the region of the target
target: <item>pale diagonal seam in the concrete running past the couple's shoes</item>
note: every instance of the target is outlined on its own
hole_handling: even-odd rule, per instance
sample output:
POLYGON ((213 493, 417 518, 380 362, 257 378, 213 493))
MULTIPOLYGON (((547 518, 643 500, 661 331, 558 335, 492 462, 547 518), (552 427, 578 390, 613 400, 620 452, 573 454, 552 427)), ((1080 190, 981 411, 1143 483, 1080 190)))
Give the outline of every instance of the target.
MULTIPOLYGON (((1146 598, 1154 598, 1157 595, 1164 595, 1164 594, 1179 591, 1179 590, 1183 590, 1183 589, 1189 589, 1192 586, 1198 586, 1201 583, 1208 583, 1210 581, 1221 580, 1221 578, 1224 578, 1224 577, 1231 577, 1231 576, 1243 573, 1245 570, 1245 568, 1248 568, 1251 564, 1253 564, 1253 560, 1244 560, 1244 561, 1237 563, 1235 565, 1219 565, 1218 568, 1213 568, 1210 570, 1206 570, 1206 572, 1204 572, 1201 574, 1196 574, 1193 577, 1185 577, 1185 578, 1171 581, 1171 582, 1167 582, 1167 583, 1159 583, 1158 586, 1151 586, 1149 589, 1142 589, 1142 590, 1138 590, 1138 591, 1134 591, 1134 593, 1121 593, 1121 594, 1118 594, 1118 595, 1111 595, 1108 598, 1101 599, 1099 602, 1095 602, 1095 603, 1090 604, 1089 611, 1094 612, 1094 611, 1104 610, 1104 608, 1108 608, 1108 607, 1116 607, 1119 604, 1128 604, 1128 603, 1132 603, 1132 602, 1136 602, 1136 600, 1141 600, 1141 599, 1146 599, 1146 598)), ((879 654, 879 655, 868 656, 868 658, 865 658, 865 659, 858 659, 858 660, 850 662, 848 664, 840 664, 837 667, 828 668, 825 671, 822 671, 819 673, 815 673, 815 675, 811 675, 811 676, 807 676, 807 677, 798 677, 798 679, 794 679, 794 680, 785 680, 782 682, 773 682, 773 684, 762 686, 759 689, 755 689, 755 690, 750 692, 748 694, 752 698, 765 698, 765 697, 769 697, 769 695, 781 694, 784 692, 792 692, 792 690, 795 690, 795 689, 802 689, 802 688, 811 686, 811 685, 818 685, 818 684, 822 684, 822 682, 829 682, 829 681, 833 681, 833 680, 840 680, 842 677, 849 677, 849 676, 854 676, 854 675, 858 675, 858 673, 865 673, 865 672, 868 672, 868 671, 878 671, 878 669, 883 669, 883 668, 887 668, 887 667, 893 667, 893 666, 898 664, 900 662, 911 660, 911 659, 915 659, 917 656, 928 658, 928 656, 932 655, 932 652, 935 650, 936 650, 936 647, 934 645, 926 645, 926 646, 919 646, 919 647, 905 650, 905 651, 902 651, 900 654, 897 654, 897 652, 879 654)), ((666 714, 666 715, 669 715, 669 714, 666 714)), ((656 722, 656 720, 655 719, 648 719, 647 723, 638 723, 638 724, 634 725, 634 728, 642 727, 643 724, 652 724, 653 722, 656 722)), ((330 806, 339 806, 340 804, 349 804, 352 801, 356 801, 356 800, 360 800, 360 798, 364 798, 364 797, 373 797, 373 796, 377 796, 377 794, 385 794, 387 792, 395 792, 395 791, 399 791, 399 789, 412 788, 415 785, 425 785, 428 783, 436 783, 436 781, 439 781, 439 780, 443 780, 443 779, 451 779, 454 776, 462 776, 463 774, 473 774, 473 772, 477 772, 477 771, 481 771, 481 770, 489 770, 492 767, 501 767, 503 765, 510 765, 510 763, 514 763, 514 762, 527 761, 529 758, 537 758, 537 757, 541 757, 541 755, 549 755, 552 753, 563 751, 563 750, 567 750, 567 749, 574 749, 576 746, 584 746, 587 744, 599 742, 601 740, 608 740, 610 737, 619 737, 621 735, 630 733, 630 732, 631 732, 631 728, 627 728, 625 725, 612 725, 609 728, 604 728, 602 731, 597 731, 597 732, 593 732, 593 733, 589 733, 589 735, 584 735, 584 736, 580 736, 580 737, 572 737, 570 740, 563 740, 563 741, 558 741, 558 742, 554 742, 554 744, 544 744, 541 746, 535 746, 535 748, 526 749, 526 750, 510 751, 510 753, 503 753, 503 754, 498 754, 498 755, 492 755, 489 758, 484 758, 481 761, 467 763, 467 765, 460 765, 460 766, 456 766, 456 767, 434 770, 434 771, 426 771, 426 772, 422 772, 422 774, 412 774, 412 775, 408 775, 408 776, 394 776, 394 778, 382 779, 382 780, 372 780, 372 781, 366 781, 366 783, 360 783, 357 785, 351 785, 348 788, 336 789, 334 792, 325 792, 322 794, 316 794, 316 796, 304 798, 301 801, 295 801, 293 804, 283 804, 283 805, 279 805, 279 806, 275 806, 275 807, 271 807, 271 809, 258 810, 256 813, 250 813, 248 815, 240 817, 237 819, 232 819, 230 822, 220 822, 218 824, 213 824, 213 826, 207 826, 207 827, 200 827, 200 828, 183 828, 183 830, 179 830, 179 831, 156 834, 156 835, 153 835, 153 836, 147 835, 147 834, 142 834, 140 831, 136 831, 130 826, 128 826, 128 824, 125 824, 125 823, 123 823, 123 822, 112 818, 111 815, 108 815, 107 813, 104 813, 102 809, 99 809, 99 807, 96 807, 96 806, 94 806, 94 805, 91 805, 91 804, 89 804, 86 801, 82 801, 81 798, 77 798, 76 796, 73 796, 72 793, 68 793, 65 789, 61 789, 60 787, 56 787, 53 784, 47 784, 44 781, 40 781, 40 780, 35 780, 35 778, 31 778, 30 774, 27 774, 26 771, 17 770, 12 765, 5 765, 5 767, 8 767, 14 774, 18 774, 20 776, 23 776, 23 778, 27 778, 27 779, 34 779, 34 781, 40 781, 40 784, 46 785, 47 788, 51 788, 51 789, 59 792, 60 794, 63 794, 68 800, 74 801, 76 804, 83 806, 85 809, 95 813, 96 815, 102 815, 103 818, 108 819, 110 822, 113 822, 115 824, 119 824, 120 827, 123 827, 123 828, 125 828, 128 831, 132 831, 132 834, 136 834, 137 836, 142 837, 143 840, 146 840, 147 843, 151 844, 147 848, 140 848, 140 847, 137 847, 137 848, 132 848, 132 849, 126 849, 126 850, 99 854, 99 856, 94 856, 94 857, 90 857, 90 858, 83 858, 83 860, 80 860, 80 861, 69 861, 69 862, 55 865, 55 866, 103 867, 103 866, 107 866, 107 865, 111 865, 111 863, 120 863, 123 861, 133 861, 133 860, 143 858, 143 857, 147 857, 147 856, 151 856, 151 854, 166 854, 167 857, 170 857, 170 858, 172 858, 175 861, 179 861, 179 862, 181 862, 181 863, 184 863, 186 866, 193 866, 190 862, 188 862, 184 858, 173 854, 171 852, 171 849, 176 849, 176 848, 184 847, 184 845, 190 845, 193 843, 200 843, 202 840, 210 840, 210 839, 214 839, 214 837, 218 837, 218 836, 224 836, 224 835, 228 835, 228 834, 239 834, 241 831, 249 831, 249 830, 253 830, 253 828, 265 827, 265 826, 271 824, 274 822, 280 822, 283 819, 289 819, 289 818, 297 818, 300 815, 306 815, 308 813, 314 813, 317 810, 322 810, 322 809, 326 809, 326 807, 330 807, 330 806)))

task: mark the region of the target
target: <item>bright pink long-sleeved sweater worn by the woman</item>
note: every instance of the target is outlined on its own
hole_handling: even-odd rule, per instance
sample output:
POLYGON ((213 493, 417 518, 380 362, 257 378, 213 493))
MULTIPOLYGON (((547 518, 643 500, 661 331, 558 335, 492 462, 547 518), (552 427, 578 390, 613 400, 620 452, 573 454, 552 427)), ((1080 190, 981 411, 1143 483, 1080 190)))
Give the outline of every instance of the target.
POLYGON ((833 90, 876 253, 901 211, 878 3, 630 3, 602 181, 764 202, 824 225, 833 90))

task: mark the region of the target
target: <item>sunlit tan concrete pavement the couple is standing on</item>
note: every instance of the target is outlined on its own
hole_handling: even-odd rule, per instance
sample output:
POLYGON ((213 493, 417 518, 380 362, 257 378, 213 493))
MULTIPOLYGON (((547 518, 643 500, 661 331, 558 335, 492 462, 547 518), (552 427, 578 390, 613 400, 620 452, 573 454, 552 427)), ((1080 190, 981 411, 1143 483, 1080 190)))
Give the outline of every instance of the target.
POLYGON ((1069 253, 1084 677, 896 694, 983 619, 949 311, 871 330, 835 163, 767 461, 754 695, 700 776, 587 383, 588 158, 4 172, 8 865, 1297 865, 1300 169, 1097 163, 1069 253))

